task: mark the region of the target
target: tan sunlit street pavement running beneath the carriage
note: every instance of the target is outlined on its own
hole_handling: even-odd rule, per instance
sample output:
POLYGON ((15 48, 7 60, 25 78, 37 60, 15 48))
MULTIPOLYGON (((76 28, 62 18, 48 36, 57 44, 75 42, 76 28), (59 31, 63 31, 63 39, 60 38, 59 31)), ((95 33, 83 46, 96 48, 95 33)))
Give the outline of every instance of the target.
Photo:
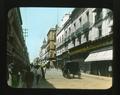
POLYGON ((46 80, 40 80, 39 86, 33 88, 57 89, 108 89, 112 86, 112 78, 83 74, 81 79, 67 79, 62 76, 61 70, 51 69, 46 71, 46 80))

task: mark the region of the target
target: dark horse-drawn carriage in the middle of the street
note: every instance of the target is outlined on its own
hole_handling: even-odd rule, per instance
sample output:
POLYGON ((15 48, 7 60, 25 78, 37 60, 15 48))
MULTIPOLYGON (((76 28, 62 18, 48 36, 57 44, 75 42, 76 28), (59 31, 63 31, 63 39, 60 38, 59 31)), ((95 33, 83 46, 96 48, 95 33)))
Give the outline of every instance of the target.
POLYGON ((78 75, 78 78, 81 77, 80 72, 80 64, 77 61, 66 61, 62 68, 63 76, 66 78, 71 78, 71 74, 73 78, 75 75, 78 75))

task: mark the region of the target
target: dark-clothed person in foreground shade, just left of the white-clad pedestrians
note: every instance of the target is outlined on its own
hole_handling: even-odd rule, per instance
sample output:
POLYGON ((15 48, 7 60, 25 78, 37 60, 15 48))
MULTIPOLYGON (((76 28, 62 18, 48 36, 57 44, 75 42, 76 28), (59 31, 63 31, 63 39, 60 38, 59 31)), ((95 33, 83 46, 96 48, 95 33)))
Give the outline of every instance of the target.
POLYGON ((27 72, 25 74, 25 82, 27 88, 31 88, 33 86, 33 79, 34 79, 34 74, 31 72, 30 67, 27 68, 27 72))

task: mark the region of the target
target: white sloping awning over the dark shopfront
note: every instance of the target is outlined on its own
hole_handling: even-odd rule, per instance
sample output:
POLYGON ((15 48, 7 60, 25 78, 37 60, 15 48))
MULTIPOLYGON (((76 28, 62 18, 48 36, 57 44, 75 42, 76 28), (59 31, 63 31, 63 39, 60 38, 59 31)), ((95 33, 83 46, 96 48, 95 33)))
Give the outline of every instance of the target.
POLYGON ((106 50, 102 52, 90 53, 88 57, 85 59, 85 62, 104 61, 104 60, 112 60, 112 59, 113 59, 113 51, 106 50))

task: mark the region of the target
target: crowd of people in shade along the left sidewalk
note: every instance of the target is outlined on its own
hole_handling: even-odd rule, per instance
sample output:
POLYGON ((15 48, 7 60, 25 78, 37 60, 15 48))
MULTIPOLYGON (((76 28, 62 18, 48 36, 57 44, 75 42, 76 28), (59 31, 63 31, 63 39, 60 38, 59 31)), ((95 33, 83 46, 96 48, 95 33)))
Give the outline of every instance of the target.
POLYGON ((45 65, 32 64, 18 72, 11 63, 8 66, 7 82, 14 88, 32 88, 33 85, 39 85, 40 80, 45 80, 45 72, 45 65))

